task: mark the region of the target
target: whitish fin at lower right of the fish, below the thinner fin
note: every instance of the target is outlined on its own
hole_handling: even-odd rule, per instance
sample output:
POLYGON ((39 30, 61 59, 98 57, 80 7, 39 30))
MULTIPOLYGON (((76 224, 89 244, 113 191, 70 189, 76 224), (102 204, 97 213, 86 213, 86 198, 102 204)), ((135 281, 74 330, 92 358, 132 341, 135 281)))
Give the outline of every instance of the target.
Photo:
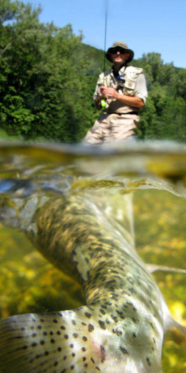
POLYGON ((166 302, 163 298, 163 295, 161 295, 161 304, 162 304, 162 310, 163 310, 163 329, 164 333, 167 332, 167 330, 173 330, 179 332, 184 338, 186 338, 186 327, 179 324, 174 318, 171 316, 169 308, 166 305, 166 302))

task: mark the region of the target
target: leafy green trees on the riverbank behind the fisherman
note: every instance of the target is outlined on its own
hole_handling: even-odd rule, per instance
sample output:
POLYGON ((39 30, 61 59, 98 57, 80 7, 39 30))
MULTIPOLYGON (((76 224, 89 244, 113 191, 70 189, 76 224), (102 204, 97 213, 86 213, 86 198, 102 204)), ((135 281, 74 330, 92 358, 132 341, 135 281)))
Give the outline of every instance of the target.
MULTIPOLYGON (((39 22, 40 13, 0 0, 0 128, 23 139, 78 142, 98 116, 92 96, 104 52, 83 44, 71 25, 39 22)), ((138 137, 186 141, 186 69, 155 52, 131 65, 144 69, 149 93, 138 137)))

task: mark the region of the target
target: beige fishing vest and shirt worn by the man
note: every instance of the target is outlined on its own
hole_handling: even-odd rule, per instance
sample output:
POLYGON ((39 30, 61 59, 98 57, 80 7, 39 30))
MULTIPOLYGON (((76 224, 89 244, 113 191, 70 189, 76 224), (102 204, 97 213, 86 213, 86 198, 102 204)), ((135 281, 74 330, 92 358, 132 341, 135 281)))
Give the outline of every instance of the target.
MULTIPOLYGON (((125 79, 123 87, 120 87, 121 83, 118 83, 118 79, 113 75, 113 69, 106 71, 104 74, 100 74, 93 95, 93 100, 96 100, 98 97, 99 87, 101 85, 105 85, 106 87, 113 87, 116 90, 119 88, 122 90, 122 93, 126 95, 140 97, 145 104, 148 93, 146 80, 144 74, 142 73, 142 69, 134 68, 132 66, 122 66, 122 68, 119 70, 119 75, 122 75, 125 79)), ((116 99, 106 98, 104 112, 126 114, 133 111, 138 113, 140 112, 140 108, 126 105, 116 99)))

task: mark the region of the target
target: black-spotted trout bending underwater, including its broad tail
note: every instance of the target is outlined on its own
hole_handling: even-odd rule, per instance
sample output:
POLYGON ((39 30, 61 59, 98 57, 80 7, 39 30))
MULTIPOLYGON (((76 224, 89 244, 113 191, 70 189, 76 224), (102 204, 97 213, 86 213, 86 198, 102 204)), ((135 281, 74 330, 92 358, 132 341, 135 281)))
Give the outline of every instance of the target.
POLYGON ((36 210, 35 230, 26 234, 76 277, 86 306, 3 320, 1 373, 162 372, 162 296, 135 251, 131 195, 122 198, 125 236, 95 191, 55 197, 36 210))

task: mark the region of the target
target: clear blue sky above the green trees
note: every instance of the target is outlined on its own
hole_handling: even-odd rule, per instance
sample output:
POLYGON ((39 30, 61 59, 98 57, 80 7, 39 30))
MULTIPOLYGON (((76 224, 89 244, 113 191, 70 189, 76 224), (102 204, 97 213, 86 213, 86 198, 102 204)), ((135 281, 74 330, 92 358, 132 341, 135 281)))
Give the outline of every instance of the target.
MULTIPOLYGON (((82 30, 83 42, 104 48, 106 0, 30 0, 41 4, 41 22, 54 21, 62 27, 71 23, 82 30)), ((24 0, 26 3, 27 1, 24 0)), ((135 58, 158 52, 164 63, 186 68, 186 1, 108 0, 106 48, 123 40, 134 50, 135 58)))

